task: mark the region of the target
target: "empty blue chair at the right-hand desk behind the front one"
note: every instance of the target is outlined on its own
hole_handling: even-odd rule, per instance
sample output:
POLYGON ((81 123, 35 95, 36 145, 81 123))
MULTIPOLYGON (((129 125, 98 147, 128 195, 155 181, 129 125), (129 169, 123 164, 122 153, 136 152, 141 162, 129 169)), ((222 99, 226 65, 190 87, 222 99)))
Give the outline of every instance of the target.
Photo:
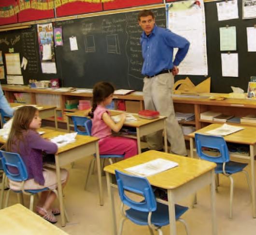
POLYGON ((215 173, 221 173, 227 176, 230 180, 229 218, 231 219, 234 192, 234 183, 231 175, 242 171, 246 176, 248 187, 251 193, 252 190, 248 173, 246 170, 243 170, 248 164, 229 160, 228 146, 222 136, 203 135, 195 133, 195 142, 198 156, 201 159, 215 162, 217 164, 217 167, 215 168, 215 173), (211 156, 203 152, 202 147, 217 149, 219 151, 219 155, 216 157, 211 156))

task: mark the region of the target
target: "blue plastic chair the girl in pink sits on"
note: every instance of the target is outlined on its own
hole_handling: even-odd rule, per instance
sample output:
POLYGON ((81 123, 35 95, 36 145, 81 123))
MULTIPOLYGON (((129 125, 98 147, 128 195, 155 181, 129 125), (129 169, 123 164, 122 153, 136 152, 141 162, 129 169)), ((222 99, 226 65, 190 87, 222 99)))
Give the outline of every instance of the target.
MULTIPOLYGON (((85 130, 88 133, 88 135, 91 135, 91 130, 92 130, 92 120, 91 119, 88 119, 85 121, 85 130)), ((109 154, 109 155, 101 155, 100 154, 100 158, 103 159, 102 169, 104 167, 104 160, 106 158, 108 158, 110 164, 113 164, 112 158, 120 158, 120 157, 125 157, 125 156, 124 155, 116 155, 116 154, 109 154)), ((93 157, 93 159, 91 160, 90 165, 89 165, 89 170, 88 170, 88 173, 86 176, 86 181, 85 181, 85 190, 87 188, 89 175, 92 173, 92 170, 94 169, 94 164, 95 164, 95 157, 93 157)))

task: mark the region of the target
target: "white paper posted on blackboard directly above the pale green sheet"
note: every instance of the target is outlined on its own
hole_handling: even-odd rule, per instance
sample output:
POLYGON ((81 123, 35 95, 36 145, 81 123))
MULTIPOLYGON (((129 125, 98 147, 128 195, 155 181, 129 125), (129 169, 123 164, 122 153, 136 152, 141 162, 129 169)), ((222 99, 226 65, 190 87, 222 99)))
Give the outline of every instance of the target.
POLYGON ((222 1, 216 4, 219 21, 239 18, 237 0, 222 1))

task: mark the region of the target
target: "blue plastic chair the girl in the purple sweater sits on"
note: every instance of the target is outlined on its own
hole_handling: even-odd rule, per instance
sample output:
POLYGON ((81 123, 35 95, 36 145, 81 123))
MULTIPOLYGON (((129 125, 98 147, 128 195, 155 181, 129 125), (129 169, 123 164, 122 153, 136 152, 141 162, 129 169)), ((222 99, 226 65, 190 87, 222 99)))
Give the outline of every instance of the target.
MULTIPOLYGON (((21 190, 16 191, 16 190, 9 189, 7 191, 4 207, 6 208, 8 205, 9 194, 10 194, 10 191, 12 190, 14 193, 24 193, 26 195, 29 195, 30 196, 29 209, 33 211, 34 195, 36 195, 37 193, 41 193, 43 191, 48 191, 50 189, 47 187, 45 187, 43 189, 38 189, 38 190, 25 190, 24 189, 24 183, 28 179, 28 171, 27 171, 27 168, 19 154, 5 152, 5 151, 0 150, 0 159, 1 159, 1 163, 2 163, 2 167, 4 170, 5 176, 7 176, 7 178, 9 180, 22 182, 21 190), (15 173, 14 173, 14 171, 15 171, 15 173)), ((3 180, 5 180, 5 179, 3 179, 3 180)), ((57 190, 54 189, 52 191, 58 197, 57 190)), ((66 211, 65 211, 65 216, 68 221, 66 211)))

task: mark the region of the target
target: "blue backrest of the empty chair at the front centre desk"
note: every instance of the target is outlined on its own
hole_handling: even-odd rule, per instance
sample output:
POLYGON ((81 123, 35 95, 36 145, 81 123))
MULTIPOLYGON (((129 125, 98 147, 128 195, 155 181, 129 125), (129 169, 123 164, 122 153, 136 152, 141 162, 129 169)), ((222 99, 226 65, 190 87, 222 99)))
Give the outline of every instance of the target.
POLYGON ((118 185, 119 196, 125 205, 132 209, 144 212, 156 210, 156 197, 153 193, 150 183, 146 178, 128 175, 119 170, 115 170, 115 176, 118 185), (140 194, 144 197, 144 200, 142 202, 137 202, 130 199, 125 194, 125 190, 140 194))

